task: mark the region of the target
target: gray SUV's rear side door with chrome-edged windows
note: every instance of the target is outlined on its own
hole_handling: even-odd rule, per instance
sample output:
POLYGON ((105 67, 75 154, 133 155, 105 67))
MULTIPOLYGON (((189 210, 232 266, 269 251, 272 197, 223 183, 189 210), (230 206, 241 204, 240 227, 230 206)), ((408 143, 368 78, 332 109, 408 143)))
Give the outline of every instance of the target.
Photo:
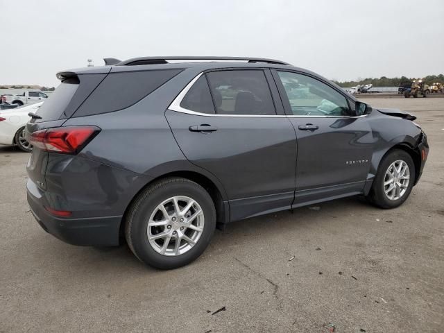
POLYGON ((166 112, 187 159, 222 182, 232 221, 290 208, 293 201, 296 135, 270 80, 268 69, 203 73, 166 112))

